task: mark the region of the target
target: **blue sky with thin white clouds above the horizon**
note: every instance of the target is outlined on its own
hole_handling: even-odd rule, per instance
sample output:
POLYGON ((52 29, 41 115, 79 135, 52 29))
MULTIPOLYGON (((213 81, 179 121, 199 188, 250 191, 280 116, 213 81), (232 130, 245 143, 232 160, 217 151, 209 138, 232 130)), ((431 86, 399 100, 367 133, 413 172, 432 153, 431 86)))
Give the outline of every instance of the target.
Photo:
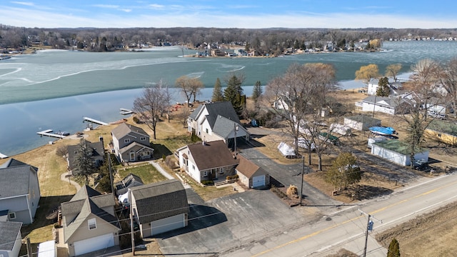
POLYGON ((455 0, 1 2, 0 24, 26 28, 457 28, 455 0))

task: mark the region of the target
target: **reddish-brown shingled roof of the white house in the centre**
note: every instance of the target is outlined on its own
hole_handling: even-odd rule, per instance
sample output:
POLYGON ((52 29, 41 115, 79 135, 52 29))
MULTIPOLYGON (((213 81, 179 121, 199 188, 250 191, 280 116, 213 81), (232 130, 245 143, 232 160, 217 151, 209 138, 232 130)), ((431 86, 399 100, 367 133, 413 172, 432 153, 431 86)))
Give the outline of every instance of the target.
POLYGON ((224 141, 194 143, 189 146, 189 151, 200 171, 209 168, 219 168, 236 165, 236 161, 224 141))

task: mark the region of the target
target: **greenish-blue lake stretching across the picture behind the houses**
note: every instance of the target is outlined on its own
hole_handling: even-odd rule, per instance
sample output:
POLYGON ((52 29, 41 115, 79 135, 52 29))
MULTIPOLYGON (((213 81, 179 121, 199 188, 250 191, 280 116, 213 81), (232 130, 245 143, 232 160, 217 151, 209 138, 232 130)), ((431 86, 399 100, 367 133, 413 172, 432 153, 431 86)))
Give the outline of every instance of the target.
MULTIPOLYGON (((246 76, 244 85, 265 85, 283 74, 293 63, 331 63, 341 88, 363 86, 353 81, 356 70, 377 64, 381 73, 389 64, 400 63, 408 73, 421 59, 446 61, 457 56, 456 41, 385 42, 377 53, 303 54, 278 58, 182 58, 178 47, 142 52, 87 53, 40 51, 0 61, 0 152, 14 155, 42 146, 54 139, 36 135, 54 129, 75 133, 86 127, 83 116, 116 121, 130 109, 141 88, 159 79, 172 86, 179 76, 199 77, 204 89, 198 99, 210 99, 217 78, 231 72, 246 76)), ((184 54, 194 51, 185 50, 184 54)), ((252 86, 243 86, 250 96, 252 86)), ((175 90, 175 89, 171 89, 175 90)), ((173 101, 184 101, 174 91, 173 101)))

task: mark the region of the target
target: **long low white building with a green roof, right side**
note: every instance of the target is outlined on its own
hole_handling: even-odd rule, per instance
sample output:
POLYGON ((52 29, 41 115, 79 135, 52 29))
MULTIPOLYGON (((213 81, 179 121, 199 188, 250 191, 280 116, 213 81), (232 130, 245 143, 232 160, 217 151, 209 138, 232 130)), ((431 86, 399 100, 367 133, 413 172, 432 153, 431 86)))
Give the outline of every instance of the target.
MULTIPOLYGON (((411 152, 408 151, 408 148, 407 143, 399 140, 379 141, 371 144, 371 154, 399 165, 409 166, 411 165, 411 152)), ((428 161, 428 150, 425 148, 416 149, 414 159, 428 161)))

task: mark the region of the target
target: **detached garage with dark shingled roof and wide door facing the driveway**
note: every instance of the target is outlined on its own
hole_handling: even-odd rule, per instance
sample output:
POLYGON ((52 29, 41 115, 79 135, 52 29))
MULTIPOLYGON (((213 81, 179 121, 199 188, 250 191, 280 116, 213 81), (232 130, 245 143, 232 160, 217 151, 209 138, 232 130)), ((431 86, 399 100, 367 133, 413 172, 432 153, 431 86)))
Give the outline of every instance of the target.
POLYGON ((188 224, 189 203, 181 181, 170 179, 129 188, 131 211, 141 237, 155 236, 188 224))

